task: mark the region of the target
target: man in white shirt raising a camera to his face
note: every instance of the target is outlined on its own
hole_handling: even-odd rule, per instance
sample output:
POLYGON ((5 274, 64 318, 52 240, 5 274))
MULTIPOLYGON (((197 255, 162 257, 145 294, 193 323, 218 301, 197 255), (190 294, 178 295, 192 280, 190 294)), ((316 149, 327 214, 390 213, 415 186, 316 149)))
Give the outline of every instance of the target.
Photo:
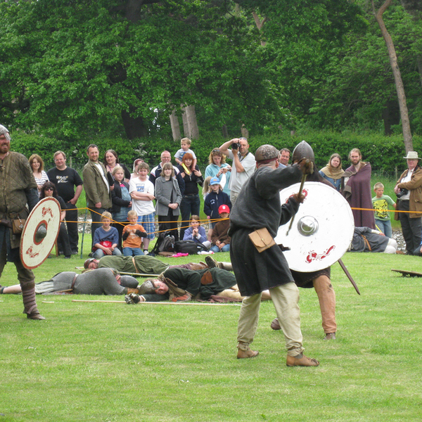
POLYGON ((231 205, 234 205, 241 188, 255 172, 255 157, 249 152, 249 143, 246 138, 231 139, 224 142, 218 149, 233 160, 229 188, 231 205))

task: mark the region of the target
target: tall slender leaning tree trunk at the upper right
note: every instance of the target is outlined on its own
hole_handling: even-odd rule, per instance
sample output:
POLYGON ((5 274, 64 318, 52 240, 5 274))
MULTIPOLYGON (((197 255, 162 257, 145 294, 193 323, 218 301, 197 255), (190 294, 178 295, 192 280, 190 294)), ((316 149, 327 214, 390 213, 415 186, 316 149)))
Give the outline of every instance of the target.
POLYGON ((392 74, 394 75, 397 98, 399 100, 400 117, 402 118, 404 148, 406 149, 406 152, 413 151, 413 139, 411 137, 409 112, 407 110, 406 94, 404 93, 402 75, 400 73, 399 64, 397 63, 397 54, 395 51, 395 46, 392 42, 392 38, 388 33, 387 28, 385 27, 383 20, 383 13, 388 8, 388 6, 390 6, 392 0, 386 0, 383 6, 379 8, 378 12, 375 11, 373 0, 371 0, 371 2, 373 15, 375 16, 375 19, 381 29, 381 34, 383 34, 385 44, 387 44, 388 57, 390 58, 390 66, 392 69, 392 74))

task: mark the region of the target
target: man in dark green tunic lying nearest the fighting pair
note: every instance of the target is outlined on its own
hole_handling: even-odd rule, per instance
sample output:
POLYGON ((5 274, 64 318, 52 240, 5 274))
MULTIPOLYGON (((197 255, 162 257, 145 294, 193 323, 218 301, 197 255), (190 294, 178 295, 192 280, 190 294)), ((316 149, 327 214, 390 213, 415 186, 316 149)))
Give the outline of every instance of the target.
MULTIPOLYGON (((147 280, 140 287, 143 294, 129 294, 124 300, 128 305, 140 302, 188 302, 210 300, 212 295, 242 300, 234 274, 220 268, 191 271, 184 268, 166 269, 157 279, 147 280)), ((265 299, 269 300, 269 295, 265 299)))

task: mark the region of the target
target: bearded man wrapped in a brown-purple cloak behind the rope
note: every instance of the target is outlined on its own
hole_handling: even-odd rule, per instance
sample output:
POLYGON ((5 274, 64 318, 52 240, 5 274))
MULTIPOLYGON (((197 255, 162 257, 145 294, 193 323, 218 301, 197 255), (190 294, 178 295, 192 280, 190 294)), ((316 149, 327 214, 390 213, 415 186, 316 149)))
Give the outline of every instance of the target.
POLYGON ((371 193, 371 164, 362 161, 362 154, 357 148, 349 153, 352 165, 345 170, 342 177, 342 192, 352 208, 366 208, 353 210, 354 225, 357 227, 371 227, 375 229, 375 217, 372 210, 371 193))

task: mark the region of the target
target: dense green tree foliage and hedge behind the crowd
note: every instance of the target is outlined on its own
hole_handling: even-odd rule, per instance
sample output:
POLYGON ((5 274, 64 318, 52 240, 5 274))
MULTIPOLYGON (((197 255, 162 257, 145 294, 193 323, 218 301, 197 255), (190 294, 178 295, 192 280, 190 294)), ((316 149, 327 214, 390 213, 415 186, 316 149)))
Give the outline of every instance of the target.
MULTIPOLYGON (((0 0, 1 121, 68 150, 116 138, 154 150, 156 139, 172 139, 172 110, 181 122, 186 105, 196 106, 201 138, 222 127, 238 136, 243 125, 252 136, 398 134, 395 84, 370 3, 0 0)), ((395 1, 384 14, 416 133, 420 4, 395 1)))

